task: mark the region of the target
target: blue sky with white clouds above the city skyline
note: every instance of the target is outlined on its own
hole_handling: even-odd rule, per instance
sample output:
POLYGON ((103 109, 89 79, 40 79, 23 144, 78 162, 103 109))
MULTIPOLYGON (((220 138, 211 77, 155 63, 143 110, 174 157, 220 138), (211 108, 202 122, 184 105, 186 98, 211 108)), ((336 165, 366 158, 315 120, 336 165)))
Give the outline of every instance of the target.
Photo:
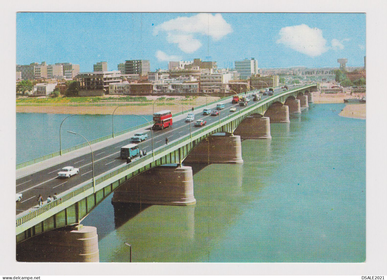
POLYGON ((16 63, 168 60, 211 56, 218 67, 254 57, 266 67, 363 66, 365 14, 296 13, 18 13, 16 63))

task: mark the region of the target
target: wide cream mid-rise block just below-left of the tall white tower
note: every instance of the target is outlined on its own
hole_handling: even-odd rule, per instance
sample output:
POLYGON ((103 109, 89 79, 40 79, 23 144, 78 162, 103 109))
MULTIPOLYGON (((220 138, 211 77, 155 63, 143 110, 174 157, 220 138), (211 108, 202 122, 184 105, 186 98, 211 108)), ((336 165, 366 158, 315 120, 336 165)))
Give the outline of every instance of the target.
POLYGON ((200 91, 203 93, 225 92, 231 78, 231 73, 202 73, 200 91))

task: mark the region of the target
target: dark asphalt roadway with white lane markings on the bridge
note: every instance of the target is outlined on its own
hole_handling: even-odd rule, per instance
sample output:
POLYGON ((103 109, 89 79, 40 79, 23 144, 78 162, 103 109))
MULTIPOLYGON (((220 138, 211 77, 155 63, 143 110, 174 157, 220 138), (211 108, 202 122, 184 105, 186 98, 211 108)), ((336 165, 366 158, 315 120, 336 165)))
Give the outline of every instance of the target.
MULTIPOLYGON (((291 89, 289 87, 289 89, 291 89)), ((274 89, 274 94, 281 93, 283 89, 276 88, 274 89)), ((261 94, 262 95, 262 94, 261 94)), ((262 100, 268 98, 269 96, 261 96, 262 100)), ((237 111, 240 107, 238 104, 231 103, 232 96, 229 100, 224 101, 225 108, 220 111, 220 118, 227 117, 230 114, 229 108, 237 107, 237 111)), ((247 107, 254 105, 257 101, 252 101, 248 103, 247 107)), ((209 108, 214 109, 216 104, 209 106, 209 108)), ((219 117, 207 115, 204 116, 202 113, 195 114, 195 120, 204 119, 207 120, 207 125, 214 122, 219 122, 219 117)), ((192 133, 201 129, 202 127, 195 127, 194 122, 191 123, 192 133)), ((134 134, 134 132, 133 132, 134 134)), ((144 150, 146 149, 147 154, 152 152, 152 142, 151 142, 151 131, 148 129, 148 139, 139 143, 139 148, 144 150)), ((157 149, 165 145, 165 138, 168 137, 170 142, 175 141, 176 139, 188 136, 190 134, 190 123, 185 122, 184 119, 173 122, 173 125, 162 131, 153 131, 153 144, 154 149, 157 149)), ((129 137, 130 138, 130 137, 129 137)), ((98 149, 94 152, 94 177, 105 173, 111 169, 114 169, 119 166, 126 164, 126 160, 120 158, 120 150, 122 146, 131 143, 130 139, 125 139, 119 143, 112 144, 110 146, 98 149)), ((139 157, 134 158, 132 161, 137 160, 139 157)), ((59 195, 62 192, 65 192, 79 184, 85 183, 92 179, 92 163, 91 163, 91 153, 82 155, 76 158, 72 158, 68 161, 54 165, 52 167, 46 168, 39 172, 21 177, 16 180, 16 192, 23 194, 23 199, 20 202, 16 203, 16 215, 29 210, 31 208, 38 207, 38 197, 39 194, 43 196, 45 200, 43 204, 46 204, 47 197, 53 196, 56 192, 59 195), (59 179, 57 173, 59 170, 65 166, 74 166, 79 168, 79 174, 70 177, 69 179, 59 179)))

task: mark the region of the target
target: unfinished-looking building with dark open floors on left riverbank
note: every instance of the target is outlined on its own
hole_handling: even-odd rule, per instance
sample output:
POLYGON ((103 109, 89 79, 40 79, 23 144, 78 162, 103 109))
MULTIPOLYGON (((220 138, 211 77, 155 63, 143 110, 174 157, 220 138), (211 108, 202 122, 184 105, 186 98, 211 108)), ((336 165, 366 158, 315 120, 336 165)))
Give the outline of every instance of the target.
POLYGON ((99 96, 109 92, 109 84, 121 82, 120 71, 84 72, 76 76, 80 96, 99 96))

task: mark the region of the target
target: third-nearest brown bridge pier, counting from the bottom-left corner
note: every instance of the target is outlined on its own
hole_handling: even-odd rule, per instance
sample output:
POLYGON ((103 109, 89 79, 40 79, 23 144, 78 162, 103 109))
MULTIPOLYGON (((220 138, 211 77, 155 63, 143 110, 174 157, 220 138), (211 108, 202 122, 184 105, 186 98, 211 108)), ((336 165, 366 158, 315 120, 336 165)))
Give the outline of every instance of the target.
POLYGON ((203 139, 184 163, 243 163, 241 137, 229 132, 215 133, 203 139))

